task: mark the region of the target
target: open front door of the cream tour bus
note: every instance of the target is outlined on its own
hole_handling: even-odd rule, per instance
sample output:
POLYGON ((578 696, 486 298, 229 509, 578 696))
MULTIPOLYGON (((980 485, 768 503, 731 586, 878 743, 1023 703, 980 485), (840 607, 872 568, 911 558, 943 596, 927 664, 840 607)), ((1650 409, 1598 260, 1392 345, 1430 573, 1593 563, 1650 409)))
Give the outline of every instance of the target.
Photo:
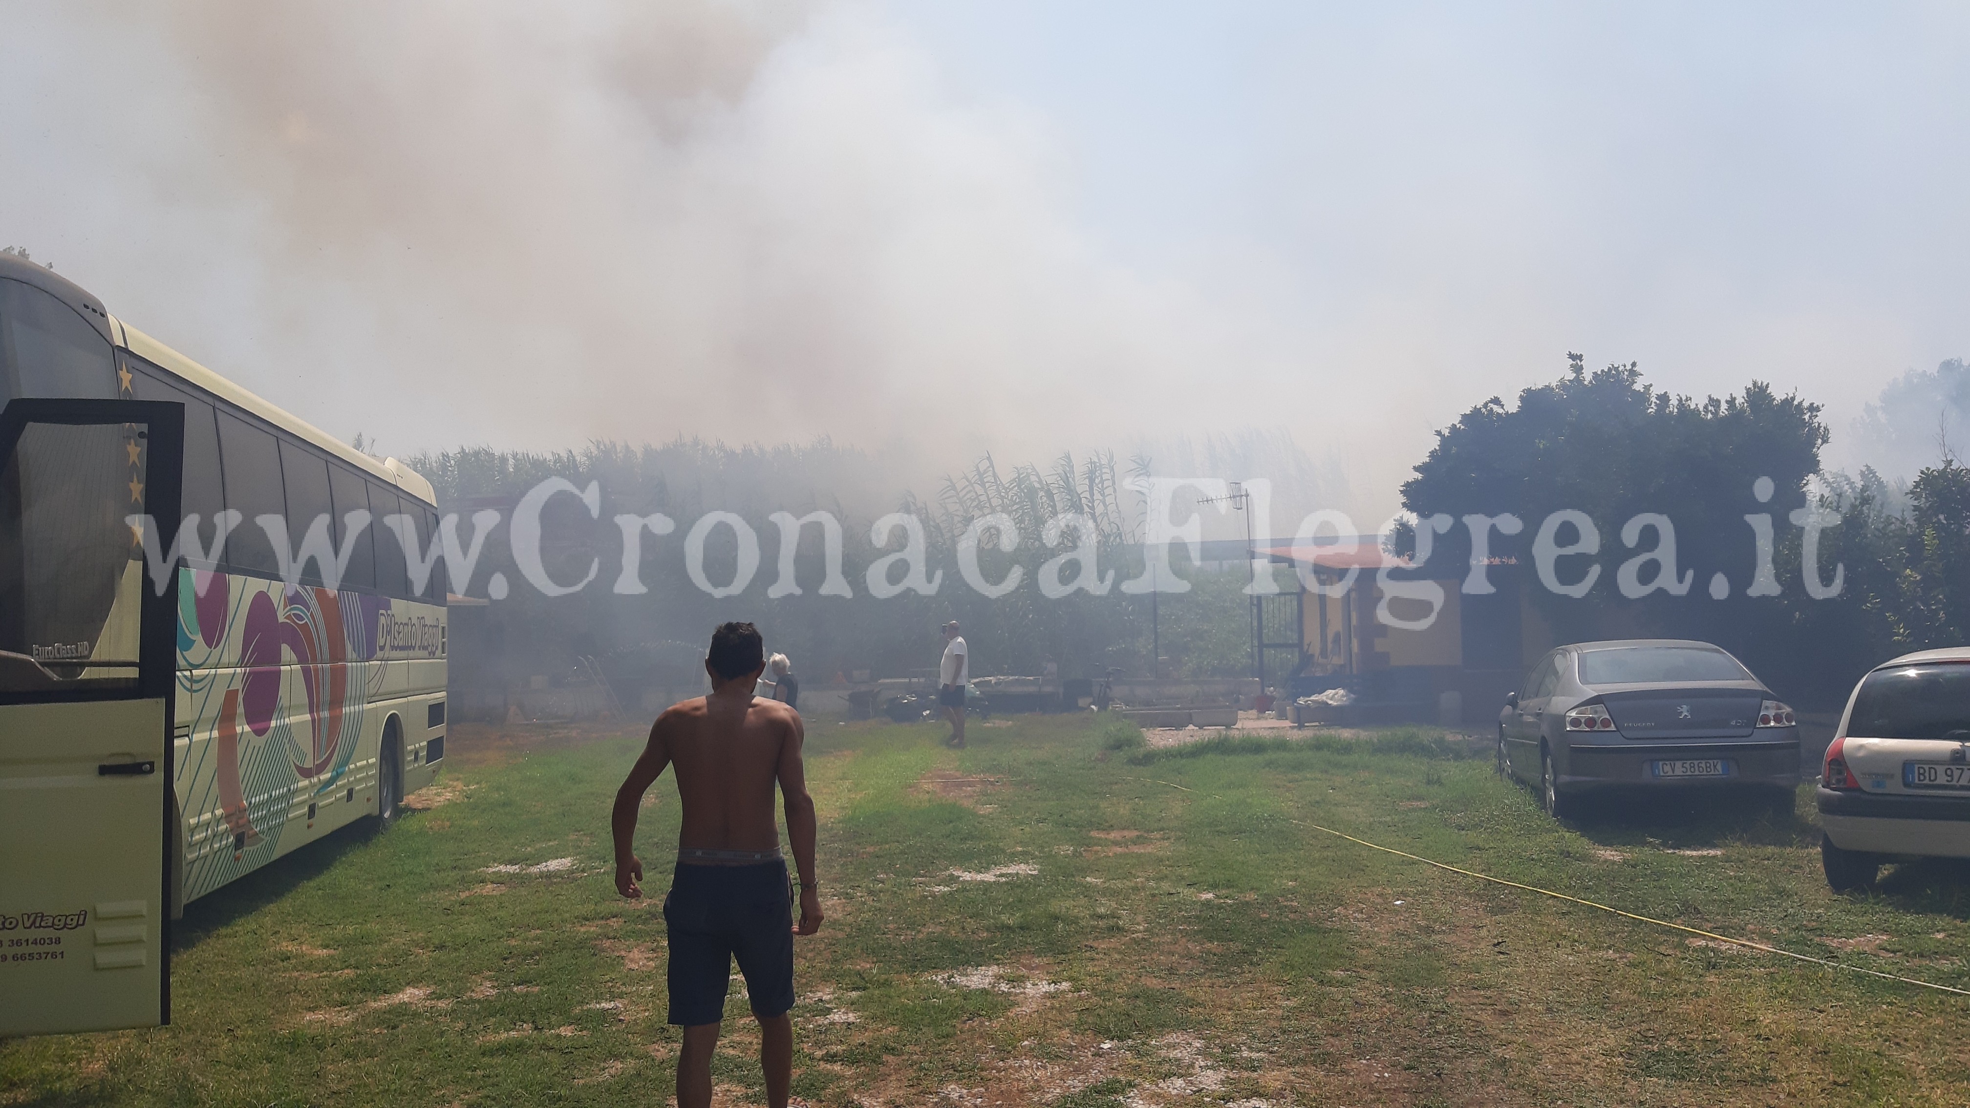
POLYGON ((171 1015, 181 473, 183 404, 0 410, 0 1037, 171 1015))

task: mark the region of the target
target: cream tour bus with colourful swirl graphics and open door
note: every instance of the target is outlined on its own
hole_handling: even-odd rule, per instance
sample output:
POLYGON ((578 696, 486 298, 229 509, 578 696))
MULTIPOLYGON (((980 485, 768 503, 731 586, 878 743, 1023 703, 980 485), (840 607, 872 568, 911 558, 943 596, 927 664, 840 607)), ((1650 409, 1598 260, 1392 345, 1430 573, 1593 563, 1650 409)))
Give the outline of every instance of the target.
POLYGON ((12 254, 0 382, 0 1037, 167 1023, 185 901, 435 777, 435 497, 12 254))

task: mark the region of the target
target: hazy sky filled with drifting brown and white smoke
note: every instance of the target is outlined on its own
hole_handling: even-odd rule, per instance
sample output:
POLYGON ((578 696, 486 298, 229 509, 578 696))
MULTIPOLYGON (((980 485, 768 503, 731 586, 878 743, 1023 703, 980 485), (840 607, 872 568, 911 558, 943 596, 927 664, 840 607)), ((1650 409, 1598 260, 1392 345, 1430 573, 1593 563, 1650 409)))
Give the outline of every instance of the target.
MULTIPOLYGON (((24 4, 0 244, 382 450, 1249 428, 1970 353, 1970 8, 24 4)), ((1223 473, 1237 477, 1239 473, 1223 473)), ((1373 517, 1373 519, 1371 519, 1373 517)))

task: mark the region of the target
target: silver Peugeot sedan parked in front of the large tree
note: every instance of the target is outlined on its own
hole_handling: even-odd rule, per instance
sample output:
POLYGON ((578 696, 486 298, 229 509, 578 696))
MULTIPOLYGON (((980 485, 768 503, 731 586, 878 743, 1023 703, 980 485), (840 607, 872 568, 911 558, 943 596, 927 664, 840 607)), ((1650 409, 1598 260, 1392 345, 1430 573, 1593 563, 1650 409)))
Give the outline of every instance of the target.
POLYGON ((1617 639, 1560 647, 1505 698, 1499 771, 1552 816, 1611 789, 1740 787, 1791 810, 1799 726, 1751 670, 1710 643, 1617 639))

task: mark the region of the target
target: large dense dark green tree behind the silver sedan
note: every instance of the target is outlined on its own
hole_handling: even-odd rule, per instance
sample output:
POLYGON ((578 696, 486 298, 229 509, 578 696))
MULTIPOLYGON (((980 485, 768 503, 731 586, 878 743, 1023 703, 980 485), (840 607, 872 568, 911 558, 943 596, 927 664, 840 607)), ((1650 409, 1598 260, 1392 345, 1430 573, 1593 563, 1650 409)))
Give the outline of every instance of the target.
MULTIPOLYGON (((1625 635, 1688 635, 1745 655, 1775 658, 1791 613, 1769 597, 1747 597, 1757 582, 1757 540, 1747 515, 1769 517, 1781 544, 1789 515, 1806 505, 1806 485, 1826 444, 1820 406, 1797 394, 1779 396, 1753 381, 1740 394, 1692 400, 1645 384, 1637 365, 1588 373, 1580 355, 1550 384, 1519 394, 1517 406, 1485 400, 1436 434, 1436 448, 1403 485, 1403 507, 1418 519, 1448 515, 1454 528, 1436 536, 1428 566, 1438 578, 1462 578, 1470 564, 1466 515, 1513 515, 1519 534, 1489 534, 1489 554, 1521 566, 1519 578, 1562 639, 1625 635), (1769 479, 1767 499, 1757 491, 1769 479), (1600 536, 1598 554, 1560 558, 1558 578, 1580 582, 1590 566, 1600 576, 1586 595, 1539 588, 1533 546, 1541 524, 1558 511, 1580 511, 1600 536), (1623 597, 1617 568, 1661 544, 1641 526, 1633 548, 1623 526, 1639 515, 1667 517, 1676 542, 1676 589, 1623 597), (1712 597, 1716 574, 1728 599, 1712 597), (1688 580, 1682 589, 1680 582, 1688 580)), ((1562 526, 1558 544, 1576 538, 1562 526)), ((1414 540, 1407 542, 1414 550, 1414 540)), ((1775 562, 1783 591, 1799 591, 1799 562, 1775 562)), ((1645 566, 1639 584, 1659 568, 1645 566)))

